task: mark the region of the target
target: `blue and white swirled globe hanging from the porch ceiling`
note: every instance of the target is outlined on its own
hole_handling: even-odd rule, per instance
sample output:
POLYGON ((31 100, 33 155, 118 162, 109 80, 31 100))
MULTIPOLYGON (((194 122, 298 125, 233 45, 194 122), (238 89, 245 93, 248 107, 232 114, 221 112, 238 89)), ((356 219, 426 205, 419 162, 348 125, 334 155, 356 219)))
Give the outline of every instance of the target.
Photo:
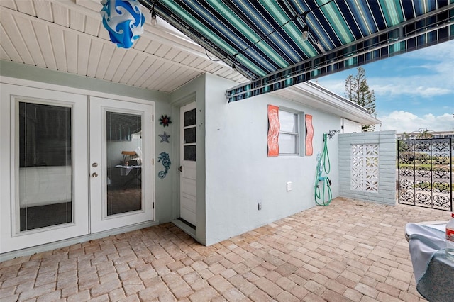
POLYGON ((118 47, 130 48, 143 34, 145 16, 138 0, 102 0, 102 24, 118 47))

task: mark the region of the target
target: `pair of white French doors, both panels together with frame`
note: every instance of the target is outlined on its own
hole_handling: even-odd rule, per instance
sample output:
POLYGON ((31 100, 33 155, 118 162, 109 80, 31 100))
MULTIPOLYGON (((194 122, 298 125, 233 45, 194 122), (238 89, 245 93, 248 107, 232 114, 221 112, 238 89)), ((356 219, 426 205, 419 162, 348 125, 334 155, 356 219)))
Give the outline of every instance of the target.
POLYGON ((0 88, 0 253, 154 219, 153 104, 0 88))

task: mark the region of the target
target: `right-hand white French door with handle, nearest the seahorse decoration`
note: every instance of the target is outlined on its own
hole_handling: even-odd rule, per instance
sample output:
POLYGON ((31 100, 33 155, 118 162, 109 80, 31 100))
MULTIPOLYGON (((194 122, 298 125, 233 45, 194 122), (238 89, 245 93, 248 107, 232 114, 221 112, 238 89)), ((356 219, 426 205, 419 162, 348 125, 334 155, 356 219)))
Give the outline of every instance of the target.
POLYGON ((153 106, 89 102, 91 232, 153 220, 153 106))

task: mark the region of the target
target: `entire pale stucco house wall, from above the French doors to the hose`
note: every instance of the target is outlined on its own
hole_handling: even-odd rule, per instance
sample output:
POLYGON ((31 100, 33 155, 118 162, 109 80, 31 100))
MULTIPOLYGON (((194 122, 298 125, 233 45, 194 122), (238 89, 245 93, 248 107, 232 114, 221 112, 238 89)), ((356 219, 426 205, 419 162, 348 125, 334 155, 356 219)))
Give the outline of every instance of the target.
MULTIPOLYGON (((225 91, 235 83, 204 74, 172 94, 160 94, 104 81, 86 79, 37 67, 2 62, 2 75, 32 81, 134 96, 155 102, 155 157, 170 154, 172 165, 165 179, 155 177, 155 219, 165 223, 179 217, 179 107, 196 101, 197 184, 196 240, 211 245, 228 237, 272 223, 315 206, 316 155, 323 148, 323 133, 341 128, 341 117, 272 94, 227 104, 225 91), (267 157, 267 105, 313 116, 314 155, 267 157), (162 114, 172 124, 162 128, 162 114), (170 143, 161 143, 163 131, 170 143), (292 191, 286 191, 287 182, 292 191), (262 210, 258 210, 258 203, 262 210)), ((328 140, 333 198, 338 196, 338 135, 328 140)), ((162 168, 155 162, 155 171, 162 168)))

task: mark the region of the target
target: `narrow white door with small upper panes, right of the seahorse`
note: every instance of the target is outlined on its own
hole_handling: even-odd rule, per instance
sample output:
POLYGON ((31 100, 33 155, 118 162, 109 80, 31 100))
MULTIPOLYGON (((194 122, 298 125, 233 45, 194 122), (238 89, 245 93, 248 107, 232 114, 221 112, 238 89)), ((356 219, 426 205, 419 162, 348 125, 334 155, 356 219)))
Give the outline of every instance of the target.
POLYGON ((196 103, 180 109, 180 199, 183 220, 196 225, 196 103))

